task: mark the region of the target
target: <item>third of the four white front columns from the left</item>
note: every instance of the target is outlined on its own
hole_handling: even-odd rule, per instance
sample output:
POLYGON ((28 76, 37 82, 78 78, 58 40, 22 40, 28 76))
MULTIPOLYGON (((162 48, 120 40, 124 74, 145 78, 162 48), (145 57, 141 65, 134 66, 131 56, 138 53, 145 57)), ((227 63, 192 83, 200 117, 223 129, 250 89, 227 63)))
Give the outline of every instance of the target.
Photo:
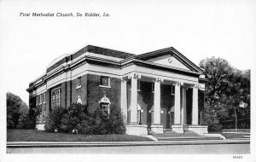
POLYGON ((175 97, 174 97, 174 124, 180 124, 180 84, 175 84, 175 97))

